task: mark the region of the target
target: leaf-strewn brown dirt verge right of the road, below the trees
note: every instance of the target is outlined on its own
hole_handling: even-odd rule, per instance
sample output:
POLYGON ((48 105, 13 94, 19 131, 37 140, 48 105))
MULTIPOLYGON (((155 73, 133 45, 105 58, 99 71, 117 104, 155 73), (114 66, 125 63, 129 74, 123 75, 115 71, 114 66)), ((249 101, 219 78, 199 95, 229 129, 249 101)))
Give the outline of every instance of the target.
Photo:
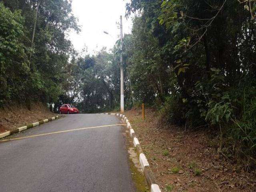
POLYGON ((126 111, 162 191, 255 192, 256 173, 222 158, 206 130, 159 126, 157 113, 126 111))

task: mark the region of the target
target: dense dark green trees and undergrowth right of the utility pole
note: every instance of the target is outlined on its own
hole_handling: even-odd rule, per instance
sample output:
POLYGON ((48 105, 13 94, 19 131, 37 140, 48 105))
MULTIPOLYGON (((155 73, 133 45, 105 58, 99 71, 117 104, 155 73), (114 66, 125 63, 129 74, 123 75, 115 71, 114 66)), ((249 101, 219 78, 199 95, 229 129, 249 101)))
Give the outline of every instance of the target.
POLYGON ((220 152, 248 162, 256 157, 255 5, 254 11, 246 1, 126 6, 127 16, 139 12, 125 49, 135 100, 154 101, 166 123, 215 129, 220 152))

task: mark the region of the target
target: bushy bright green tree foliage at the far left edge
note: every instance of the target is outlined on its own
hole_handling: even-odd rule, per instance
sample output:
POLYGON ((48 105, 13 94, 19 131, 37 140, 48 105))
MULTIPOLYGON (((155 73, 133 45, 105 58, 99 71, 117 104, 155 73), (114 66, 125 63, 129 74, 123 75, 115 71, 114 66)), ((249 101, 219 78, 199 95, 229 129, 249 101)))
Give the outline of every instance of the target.
POLYGON ((28 74, 27 48, 24 38, 24 18, 20 11, 11 12, 0 2, 0 103, 14 98, 22 90, 28 74), (24 76, 20 76, 24 74, 24 76))

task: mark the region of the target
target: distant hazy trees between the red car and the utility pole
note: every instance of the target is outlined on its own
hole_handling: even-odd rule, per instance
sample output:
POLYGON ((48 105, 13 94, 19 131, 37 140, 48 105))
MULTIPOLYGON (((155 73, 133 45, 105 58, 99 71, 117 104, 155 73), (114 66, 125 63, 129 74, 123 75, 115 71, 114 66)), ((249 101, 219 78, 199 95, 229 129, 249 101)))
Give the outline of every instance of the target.
POLYGON ((84 113, 117 111, 120 69, 113 52, 102 48, 94 56, 85 55, 74 60, 66 94, 59 98, 58 106, 74 104, 84 113))

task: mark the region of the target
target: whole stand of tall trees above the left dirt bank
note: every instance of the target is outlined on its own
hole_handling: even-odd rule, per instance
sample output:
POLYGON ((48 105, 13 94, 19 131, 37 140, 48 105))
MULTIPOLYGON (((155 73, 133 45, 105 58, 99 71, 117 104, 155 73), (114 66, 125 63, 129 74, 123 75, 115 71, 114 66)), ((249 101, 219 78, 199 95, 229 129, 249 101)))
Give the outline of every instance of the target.
POLYGON ((69 0, 0 0, 1 106, 58 100, 74 52, 65 34, 79 31, 71 11, 69 0))

